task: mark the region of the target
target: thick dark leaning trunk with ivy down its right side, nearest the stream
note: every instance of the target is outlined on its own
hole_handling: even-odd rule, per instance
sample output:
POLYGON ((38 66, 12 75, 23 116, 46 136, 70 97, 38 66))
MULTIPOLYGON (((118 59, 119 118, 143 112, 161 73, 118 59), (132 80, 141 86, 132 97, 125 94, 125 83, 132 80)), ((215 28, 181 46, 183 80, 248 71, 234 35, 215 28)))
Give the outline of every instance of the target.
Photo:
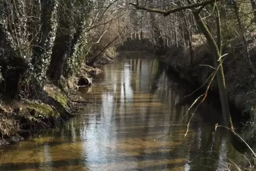
POLYGON ((64 1, 59 7, 57 37, 47 74, 59 81, 79 71, 87 57, 87 32, 92 1, 64 1))

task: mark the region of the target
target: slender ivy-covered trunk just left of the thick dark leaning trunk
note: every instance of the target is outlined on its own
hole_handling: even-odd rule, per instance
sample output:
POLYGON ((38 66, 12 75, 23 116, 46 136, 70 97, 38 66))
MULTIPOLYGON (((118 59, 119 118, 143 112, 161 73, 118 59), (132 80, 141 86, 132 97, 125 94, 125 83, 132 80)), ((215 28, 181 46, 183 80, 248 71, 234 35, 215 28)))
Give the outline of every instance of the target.
POLYGON ((57 2, 55 0, 41 0, 41 30, 37 45, 33 49, 32 65, 32 93, 41 91, 44 88, 46 71, 50 64, 52 48, 56 36, 57 27, 57 2))

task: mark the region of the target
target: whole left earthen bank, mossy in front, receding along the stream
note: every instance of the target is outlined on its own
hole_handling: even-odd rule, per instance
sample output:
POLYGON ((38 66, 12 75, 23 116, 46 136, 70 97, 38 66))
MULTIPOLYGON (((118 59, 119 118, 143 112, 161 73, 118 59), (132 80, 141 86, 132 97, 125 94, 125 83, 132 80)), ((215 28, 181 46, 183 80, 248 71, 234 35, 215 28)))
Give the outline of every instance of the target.
MULTIPOLYGON (((68 80, 63 78, 58 85, 48 81, 37 98, 0 99, 0 146, 19 142, 25 136, 56 127, 81 114, 87 101, 76 100, 75 91, 79 89, 79 80, 100 73, 101 70, 96 66, 111 63, 112 59, 103 55, 94 67, 83 64, 78 74, 68 80)), ((96 85, 92 83, 91 86, 96 85)))

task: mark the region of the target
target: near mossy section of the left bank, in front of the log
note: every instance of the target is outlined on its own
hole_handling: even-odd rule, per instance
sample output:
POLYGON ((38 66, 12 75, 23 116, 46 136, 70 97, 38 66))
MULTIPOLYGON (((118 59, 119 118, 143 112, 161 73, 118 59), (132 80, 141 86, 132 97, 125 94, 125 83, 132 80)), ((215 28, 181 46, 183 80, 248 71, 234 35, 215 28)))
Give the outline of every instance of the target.
POLYGON ((0 145, 23 139, 24 132, 54 127, 75 115, 75 104, 54 86, 46 84, 37 99, 2 100, 0 106, 0 145))

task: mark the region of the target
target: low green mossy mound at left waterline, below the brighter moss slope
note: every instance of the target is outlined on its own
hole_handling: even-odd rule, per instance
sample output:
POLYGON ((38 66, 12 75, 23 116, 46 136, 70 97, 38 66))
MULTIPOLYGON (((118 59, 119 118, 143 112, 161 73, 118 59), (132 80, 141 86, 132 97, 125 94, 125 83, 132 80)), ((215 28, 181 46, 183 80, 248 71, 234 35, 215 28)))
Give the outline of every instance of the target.
POLYGON ((37 104, 33 101, 28 101, 26 104, 23 104, 20 108, 20 113, 27 115, 31 114, 33 117, 58 117, 59 113, 55 112, 53 108, 46 104, 37 104))

